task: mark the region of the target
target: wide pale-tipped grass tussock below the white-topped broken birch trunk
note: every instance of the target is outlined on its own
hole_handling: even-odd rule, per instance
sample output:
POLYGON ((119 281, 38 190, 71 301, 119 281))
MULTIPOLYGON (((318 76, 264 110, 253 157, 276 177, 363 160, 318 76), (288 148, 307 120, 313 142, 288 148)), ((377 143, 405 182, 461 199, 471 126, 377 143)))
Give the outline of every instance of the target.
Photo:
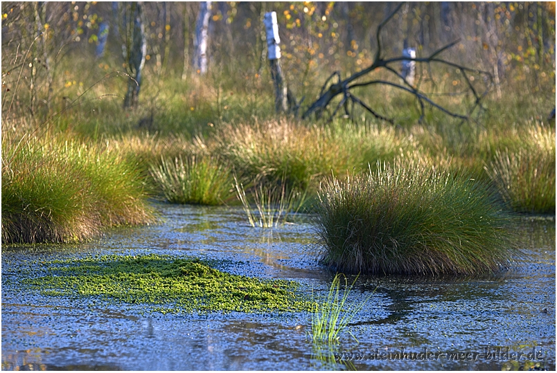
POLYGON ((222 154, 242 178, 317 190, 331 171, 362 170, 392 159, 415 144, 392 127, 347 123, 307 125, 294 120, 225 125, 213 152, 222 154))

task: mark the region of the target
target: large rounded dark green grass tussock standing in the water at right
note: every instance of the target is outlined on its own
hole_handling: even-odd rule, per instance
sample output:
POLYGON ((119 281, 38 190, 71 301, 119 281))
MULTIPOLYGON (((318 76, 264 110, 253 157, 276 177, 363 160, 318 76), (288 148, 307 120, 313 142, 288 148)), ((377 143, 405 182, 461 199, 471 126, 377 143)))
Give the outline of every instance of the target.
POLYGON ((345 273, 492 273, 518 253, 495 195, 463 172, 420 163, 332 177, 316 222, 323 262, 345 273))

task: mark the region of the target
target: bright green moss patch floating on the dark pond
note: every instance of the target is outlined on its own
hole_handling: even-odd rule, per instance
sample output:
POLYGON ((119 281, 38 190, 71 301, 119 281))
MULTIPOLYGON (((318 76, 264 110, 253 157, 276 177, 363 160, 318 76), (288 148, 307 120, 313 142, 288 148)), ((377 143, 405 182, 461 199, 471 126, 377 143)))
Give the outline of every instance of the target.
POLYGON ((296 282, 231 275, 214 264, 169 255, 103 255, 47 262, 48 275, 27 282, 45 295, 148 304, 162 313, 311 309, 296 282))

